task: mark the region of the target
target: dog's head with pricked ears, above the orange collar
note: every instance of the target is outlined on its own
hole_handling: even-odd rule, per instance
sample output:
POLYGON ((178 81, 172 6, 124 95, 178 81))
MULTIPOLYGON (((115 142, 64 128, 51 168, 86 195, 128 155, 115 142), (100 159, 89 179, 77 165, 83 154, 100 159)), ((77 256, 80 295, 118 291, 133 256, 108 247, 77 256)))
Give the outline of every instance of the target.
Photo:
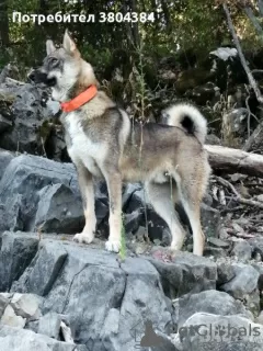
POLYGON ((53 88, 53 99, 64 102, 73 98, 75 91, 98 86, 90 64, 81 58, 76 43, 66 31, 61 47, 56 48, 53 41, 46 42, 47 56, 42 67, 33 70, 28 78, 36 83, 53 88))

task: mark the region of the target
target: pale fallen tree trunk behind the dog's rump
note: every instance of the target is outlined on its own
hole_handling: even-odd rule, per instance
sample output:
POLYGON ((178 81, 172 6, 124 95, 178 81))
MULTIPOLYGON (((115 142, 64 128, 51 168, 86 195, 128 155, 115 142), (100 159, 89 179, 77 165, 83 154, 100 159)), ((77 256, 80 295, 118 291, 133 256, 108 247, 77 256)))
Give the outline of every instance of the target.
POLYGON ((213 169, 263 178, 263 156, 217 145, 205 145, 213 169))

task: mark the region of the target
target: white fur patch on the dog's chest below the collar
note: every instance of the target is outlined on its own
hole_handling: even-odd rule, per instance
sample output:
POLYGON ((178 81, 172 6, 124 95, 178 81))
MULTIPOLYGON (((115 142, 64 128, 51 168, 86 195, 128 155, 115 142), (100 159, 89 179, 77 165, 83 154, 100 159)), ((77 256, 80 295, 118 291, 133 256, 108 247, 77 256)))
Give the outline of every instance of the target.
POLYGON ((89 171, 96 177, 101 177, 98 167, 104 158, 104 150, 100 143, 94 143, 83 131, 82 123, 78 115, 68 114, 65 118, 66 133, 68 134, 68 154, 78 166, 81 161, 89 171))

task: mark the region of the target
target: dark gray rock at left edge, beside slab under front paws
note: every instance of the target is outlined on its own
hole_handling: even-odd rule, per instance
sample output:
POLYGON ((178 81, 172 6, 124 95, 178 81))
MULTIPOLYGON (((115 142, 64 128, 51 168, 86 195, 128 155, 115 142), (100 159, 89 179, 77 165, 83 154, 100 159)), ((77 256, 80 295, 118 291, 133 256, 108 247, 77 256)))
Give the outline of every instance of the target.
POLYGON ((37 252, 38 238, 35 234, 5 231, 0 251, 0 291, 9 291, 19 280, 37 252))

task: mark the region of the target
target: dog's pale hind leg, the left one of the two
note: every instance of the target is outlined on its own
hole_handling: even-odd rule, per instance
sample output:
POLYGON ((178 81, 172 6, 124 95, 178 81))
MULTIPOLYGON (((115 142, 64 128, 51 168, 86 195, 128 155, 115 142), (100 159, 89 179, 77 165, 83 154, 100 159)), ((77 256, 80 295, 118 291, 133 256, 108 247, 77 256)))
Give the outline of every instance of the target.
POLYGON ((169 183, 159 184, 155 182, 147 182, 145 188, 155 211, 169 226, 172 235, 171 249, 181 250, 185 231, 174 210, 174 203, 178 196, 175 189, 172 190, 169 183))

